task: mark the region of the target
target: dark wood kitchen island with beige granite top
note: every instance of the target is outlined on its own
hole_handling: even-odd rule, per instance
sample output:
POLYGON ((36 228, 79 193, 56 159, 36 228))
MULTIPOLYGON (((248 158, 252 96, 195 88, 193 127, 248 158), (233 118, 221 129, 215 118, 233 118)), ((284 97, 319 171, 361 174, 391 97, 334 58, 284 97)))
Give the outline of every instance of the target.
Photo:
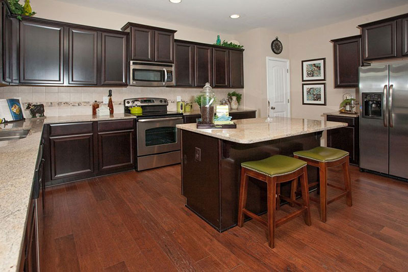
MULTIPOLYGON (((274 117, 236 120, 236 129, 197 129, 177 125, 182 136, 182 194, 186 207, 216 230, 237 225, 241 162, 320 146, 322 132, 346 123, 274 117)), ((309 182, 317 179, 308 167, 309 182)), ((265 182, 250 178, 247 208, 266 211, 265 182)), ((289 186, 290 187, 290 186, 289 186)), ((288 187, 282 188, 285 194, 288 187)))

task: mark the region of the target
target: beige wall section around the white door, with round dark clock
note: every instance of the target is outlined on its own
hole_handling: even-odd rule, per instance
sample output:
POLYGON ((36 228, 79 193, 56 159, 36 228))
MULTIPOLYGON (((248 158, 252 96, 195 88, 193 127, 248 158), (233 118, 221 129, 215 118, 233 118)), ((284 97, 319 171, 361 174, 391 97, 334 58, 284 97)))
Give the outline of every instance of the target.
MULTIPOLYGON (((244 45, 244 104, 257 110, 259 117, 267 116, 266 58, 289 59, 289 35, 275 30, 258 28, 235 36, 244 45), (275 37, 283 44, 283 51, 276 55, 271 50, 275 37)), ((242 104, 242 102, 241 102, 242 104)))

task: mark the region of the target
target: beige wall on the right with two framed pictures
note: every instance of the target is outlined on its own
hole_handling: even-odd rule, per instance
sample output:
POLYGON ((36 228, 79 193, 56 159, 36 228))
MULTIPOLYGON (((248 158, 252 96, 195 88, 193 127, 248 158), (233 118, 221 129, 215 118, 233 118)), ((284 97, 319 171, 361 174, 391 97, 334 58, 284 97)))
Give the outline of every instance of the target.
POLYGON ((408 5, 354 18, 336 24, 325 25, 289 36, 291 65, 291 113, 292 117, 324 119, 323 113, 339 109, 343 93, 358 94, 356 89, 334 88, 334 60, 331 39, 360 34, 356 26, 370 21, 408 13, 408 5), (326 106, 302 105, 301 61, 326 58, 326 106))

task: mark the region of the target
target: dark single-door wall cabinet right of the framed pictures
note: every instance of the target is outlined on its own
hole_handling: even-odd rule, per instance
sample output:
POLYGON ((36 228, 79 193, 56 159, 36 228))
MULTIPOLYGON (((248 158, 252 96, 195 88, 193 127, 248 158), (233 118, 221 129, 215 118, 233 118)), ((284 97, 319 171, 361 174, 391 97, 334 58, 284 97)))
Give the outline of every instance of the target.
POLYGON ((359 87, 361 38, 338 41, 335 47, 335 88, 359 87))

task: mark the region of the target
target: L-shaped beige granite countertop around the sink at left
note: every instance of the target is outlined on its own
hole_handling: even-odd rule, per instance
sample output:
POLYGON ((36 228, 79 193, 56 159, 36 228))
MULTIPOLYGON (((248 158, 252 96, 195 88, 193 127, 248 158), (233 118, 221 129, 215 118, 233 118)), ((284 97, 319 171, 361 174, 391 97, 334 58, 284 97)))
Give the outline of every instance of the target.
POLYGON ((0 131, 30 129, 26 138, 0 142, 0 271, 18 269, 43 125, 127 118, 135 117, 123 113, 41 117, 0 124, 0 131))

